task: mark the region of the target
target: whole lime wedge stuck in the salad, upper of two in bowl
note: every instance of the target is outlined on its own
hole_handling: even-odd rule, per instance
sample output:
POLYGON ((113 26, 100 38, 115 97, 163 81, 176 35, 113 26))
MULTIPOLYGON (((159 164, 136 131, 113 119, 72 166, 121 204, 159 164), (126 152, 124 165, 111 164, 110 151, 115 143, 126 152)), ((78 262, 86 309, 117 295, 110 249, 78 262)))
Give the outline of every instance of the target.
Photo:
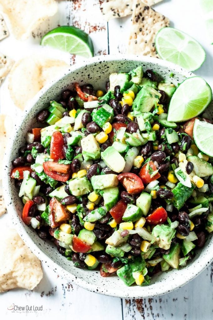
POLYGON ((196 117, 205 110, 211 100, 211 88, 203 78, 187 78, 171 97, 167 120, 182 122, 196 117))

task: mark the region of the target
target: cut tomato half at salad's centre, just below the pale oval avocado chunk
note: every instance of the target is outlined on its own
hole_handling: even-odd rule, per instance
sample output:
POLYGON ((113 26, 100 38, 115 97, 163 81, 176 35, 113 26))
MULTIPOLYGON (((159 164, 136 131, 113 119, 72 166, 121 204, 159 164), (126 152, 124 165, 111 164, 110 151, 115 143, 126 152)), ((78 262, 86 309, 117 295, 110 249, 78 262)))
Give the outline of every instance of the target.
POLYGON ((126 191, 131 195, 135 195, 144 189, 143 182, 134 173, 121 173, 118 175, 118 180, 122 183, 126 191))

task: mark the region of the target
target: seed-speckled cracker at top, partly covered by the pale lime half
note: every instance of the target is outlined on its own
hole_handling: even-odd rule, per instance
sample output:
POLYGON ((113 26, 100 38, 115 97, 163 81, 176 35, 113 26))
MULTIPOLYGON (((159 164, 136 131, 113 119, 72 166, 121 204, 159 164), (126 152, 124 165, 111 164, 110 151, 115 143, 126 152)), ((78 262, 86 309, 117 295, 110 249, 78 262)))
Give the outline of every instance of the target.
POLYGON ((168 26, 168 18, 135 0, 127 53, 158 57, 155 48, 155 36, 161 28, 168 26))

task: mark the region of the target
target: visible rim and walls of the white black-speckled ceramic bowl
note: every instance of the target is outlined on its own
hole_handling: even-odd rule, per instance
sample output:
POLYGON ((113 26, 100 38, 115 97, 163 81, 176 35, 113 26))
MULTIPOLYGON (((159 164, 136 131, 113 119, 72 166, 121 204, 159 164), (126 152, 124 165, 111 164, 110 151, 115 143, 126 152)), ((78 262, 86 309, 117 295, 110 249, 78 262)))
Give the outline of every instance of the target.
POLYGON ((62 90, 72 87, 72 83, 91 83, 94 87, 104 88, 110 73, 129 71, 139 65, 143 69, 153 69, 160 78, 168 79, 174 84, 181 83, 186 77, 193 76, 192 73, 183 70, 177 65, 166 61, 136 56, 99 56, 88 60, 81 65, 74 65, 60 79, 53 81, 49 86, 43 88, 31 101, 31 105, 25 110, 21 121, 16 124, 16 132, 8 143, 4 162, 4 197, 11 221, 25 241, 27 246, 44 263, 57 274, 67 278, 81 287, 105 295, 122 298, 145 298, 171 292, 197 276, 213 258, 213 241, 209 236, 205 247, 196 253, 196 257, 186 268, 169 272, 163 272, 154 276, 149 286, 127 287, 117 277, 103 278, 100 272, 75 268, 72 261, 57 252, 56 246, 48 241, 40 239, 34 229, 26 226, 20 219, 23 204, 18 197, 18 191, 14 181, 10 179, 12 160, 18 155, 19 148, 25 143, 25 134, 36 124, 35 116, 38 111, 47 107, 49 100, 58 99, 62 90), (170 75, 173 74, 172 77, 170 75))

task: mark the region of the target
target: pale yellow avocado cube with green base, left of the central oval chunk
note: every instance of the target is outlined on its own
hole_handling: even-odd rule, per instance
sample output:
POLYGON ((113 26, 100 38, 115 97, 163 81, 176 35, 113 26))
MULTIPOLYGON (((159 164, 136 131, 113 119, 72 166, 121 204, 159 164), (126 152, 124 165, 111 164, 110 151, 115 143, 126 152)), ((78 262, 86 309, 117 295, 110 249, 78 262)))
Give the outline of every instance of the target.
POLYGON ((81 140, 81 147, 84 160, 96 160, 101 157, 101 148, 93 134, 81 140))

